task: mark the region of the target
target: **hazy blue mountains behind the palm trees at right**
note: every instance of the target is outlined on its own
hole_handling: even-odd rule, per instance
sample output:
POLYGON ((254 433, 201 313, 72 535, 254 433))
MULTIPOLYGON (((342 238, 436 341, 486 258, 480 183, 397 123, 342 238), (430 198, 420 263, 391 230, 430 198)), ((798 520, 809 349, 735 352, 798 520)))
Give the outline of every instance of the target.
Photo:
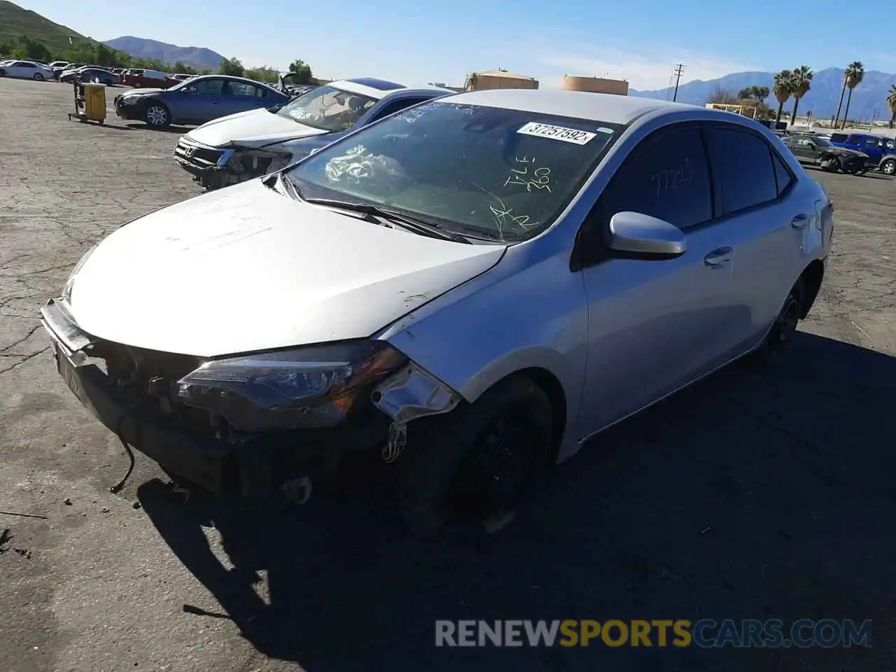
MULTIPOLYGON (((749 86, 768 86, 774 82, 775 73, 731 73, 719 79, 703 82, 695 80, 678 87, 678 102, 691 103, 693 105, 706 104, 712 92, 722 88, 737 94, 737 91, 749 86)), ((865 79, 852 92, 852 102, 849 104, 849 118, 870 119, 876 109, 881 119, 890 118, 890 110, 887 107, 887 91, 890 85, 896 84, 896 74, 881 73, 869 70, 865 73, 865 79)), ((843 88, 843 71, 839 68, 825 68, 814 73, 812 89, 806 93, 799 102, 799 112, 805 114, 812 112, 816 118, 830 118, 837 112, 837 104, 840 102, 840 90, 843 88)), ((642 96, 660 100, 671 100, 672 89, 660 90, 629 90, 630 96, 642 96)), ((766 99, 769 107, 778 108, 778 101, 774 96, 766 99)), ((844 99, 844 107, 846 99, 844 99)), ((793 99, 784 104, 785 109, 793 108, 793 99)))

